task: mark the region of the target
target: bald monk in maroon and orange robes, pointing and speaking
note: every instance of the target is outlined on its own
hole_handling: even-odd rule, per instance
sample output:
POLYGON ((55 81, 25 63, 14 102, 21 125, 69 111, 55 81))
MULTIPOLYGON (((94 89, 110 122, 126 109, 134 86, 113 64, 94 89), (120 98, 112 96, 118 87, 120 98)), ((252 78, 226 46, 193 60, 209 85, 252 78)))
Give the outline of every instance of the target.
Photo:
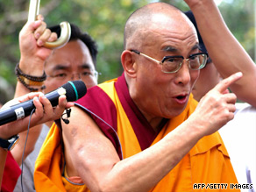
MULTIPOLYGON (((187 3, 219 14, 213 0, 187 3)), ((123 75, 89 89, 69 124, 53 124, 36 162, 37 191, 191 191, 197 183, 236 183, 217 130, 234 117, 237 97, 227 88, 242 74, 227 73, 197 104, 190 93, 206 60, 194 25, 174 6, 153 3, 132 13, 123 75)))

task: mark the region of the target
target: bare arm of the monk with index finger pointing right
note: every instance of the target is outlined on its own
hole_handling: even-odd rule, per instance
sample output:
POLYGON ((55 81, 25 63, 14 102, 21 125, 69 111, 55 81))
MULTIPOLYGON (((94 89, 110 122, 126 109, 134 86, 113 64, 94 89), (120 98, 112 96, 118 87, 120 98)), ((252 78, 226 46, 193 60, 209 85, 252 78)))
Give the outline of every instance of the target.
POLYGON ((186 122, 155 145, 124 160, 119 159, 110 139, 94 120, 75 107, 70 123, 62 124, 65 150, 68 156, 75 157, 71 158, 75 171, 91 191, 150 190, 199 139, 216 132, 234 117, 236 96, 225 93, 239 78, 241 74, 232 75, 217 84, 186 122))

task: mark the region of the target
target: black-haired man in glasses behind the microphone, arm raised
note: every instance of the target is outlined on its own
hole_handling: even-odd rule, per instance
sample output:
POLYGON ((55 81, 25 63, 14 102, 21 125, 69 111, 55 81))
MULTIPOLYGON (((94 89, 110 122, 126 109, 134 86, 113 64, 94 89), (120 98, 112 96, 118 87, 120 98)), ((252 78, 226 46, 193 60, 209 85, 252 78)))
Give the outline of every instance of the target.
MULTIPOLYGON (((39 16, 39 19, 41 16, 39 16)), ((59 49, 53 51, 46 49, 43 43, 39 43, 37 39, 37 32, 39 32, 40 25, 37 29, 30 28, 31 24, 26 24, 20 32, 19 43, 22 59, 17 68, 24 74, 30 76, 37 76, 46 74, 46 80, 40 86, 33 86, 32 89, 43 89, 45 93, 59 88, 68 81, 82 80, 87 89, 97 84, 96 71, 96 42, 86 32, 81 32, 77 25, 71 24, 71 37, 69 42, 59 49), (30 37, 30 38, 28 38, 30 37), (37 41, 36 41, 37 40, 37 41), (31 46, 32 45, 32 46, 31 46), (48 56, 49 55, 49 56, 48 56), (43 59, 42 59, 43 58, 43 59), (25 61, 30 60, 30 61, 25 61), (31 61, 32 60, 32 61, 31 61), (33 63, 32 63, 33 62, 33 63)), ((45 25, 45 23, 43 23, 45 25)), ((60 25, 54 25, 49 28, 51 32, 56 32, 60 36, 60 25)), ((47 29, 44 29, 45 32, 47 29)), ((44 32, 42 30, 42 32, 44 32)), ((16 70, 17 70, 16 68, 16 70)), ((18 91, 24 93, 30 92, 30 85, 24 85, 18 81, 18 91), (27 87, 26 87, 27 86, 27 87)), ((46 138, 49 128, 53 121, 40 124, 38 128, 29 132, 28 143, 25 151, 25 161, 23 165, 23 188, 25 191, 35 191, 33 184, 34 163, 39 154, 39 150, 46 138), (41 132, 39 132, 41 127, 41 132), (38 139, 39 138, 39 139, 38 139), (33 144, 36 142, 34 148, 33 144)), ((21 164, 21 153, 24 149, 26 132, 20 134, 21 142, 14 153, 18 164, 21 164)), ((21 191, 21 178, 17 182, 14 191, 21 191)))

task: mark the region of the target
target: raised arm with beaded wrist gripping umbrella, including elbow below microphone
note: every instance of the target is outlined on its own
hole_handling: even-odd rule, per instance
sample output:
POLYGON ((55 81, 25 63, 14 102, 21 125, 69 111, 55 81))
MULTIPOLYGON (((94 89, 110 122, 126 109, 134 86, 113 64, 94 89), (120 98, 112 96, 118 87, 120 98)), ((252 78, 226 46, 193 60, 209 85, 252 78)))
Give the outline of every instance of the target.
MULTIPOLYGON (((46 29, 46 23, 43 22, 41 15, 38 16, 36 22, 25 24, 19 33, 20 60, 18 63, 18 67, 25 75, 42 76, 44 74, 45 60, 50 53, 52 53, 52 50, 45 48, 43 45, 46 41, 53 41, 54 39, 57 39, 56 34, 46 29)), ((34 89, 39 89, 40 87, 41 86, 32 86, 34 89)), ((25 86, 18 81, 14 97, 23 96, 29 92, 31 92, 31 90, 25 88, 25 86)), ((39 138, 41 128, 42 125, 39 124, 30 131, 28 137, 26 131, 19 134, 20 139, 18 145, 11 151, 12 156, 19 165, 21 165, 26 137, 25 157, 29 153, 32 153, 34 145, 39 138)))

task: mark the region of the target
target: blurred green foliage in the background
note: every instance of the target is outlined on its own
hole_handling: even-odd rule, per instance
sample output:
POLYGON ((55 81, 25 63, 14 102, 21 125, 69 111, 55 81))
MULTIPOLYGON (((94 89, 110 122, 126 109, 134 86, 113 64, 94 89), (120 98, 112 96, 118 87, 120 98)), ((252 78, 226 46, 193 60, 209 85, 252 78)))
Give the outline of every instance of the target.
MULTIPOLYGON (((13 98, 16 85, 14 68, 19 60, 18 32, 27 20, 29 0, 0 0, 0 103, 13 98)), ((68 21, 79 25, 96 40, 99 54, 99 82, 117 77, 123 71, 120 54, 123 51, 124 24, 137 8, 152 2, 174 4, 181 11, 188 6, 181 0, 41 0, 40 14, 46 24, 68 21)), ((256 0, 217 0, 231 32, 256 60, 256 0)))

